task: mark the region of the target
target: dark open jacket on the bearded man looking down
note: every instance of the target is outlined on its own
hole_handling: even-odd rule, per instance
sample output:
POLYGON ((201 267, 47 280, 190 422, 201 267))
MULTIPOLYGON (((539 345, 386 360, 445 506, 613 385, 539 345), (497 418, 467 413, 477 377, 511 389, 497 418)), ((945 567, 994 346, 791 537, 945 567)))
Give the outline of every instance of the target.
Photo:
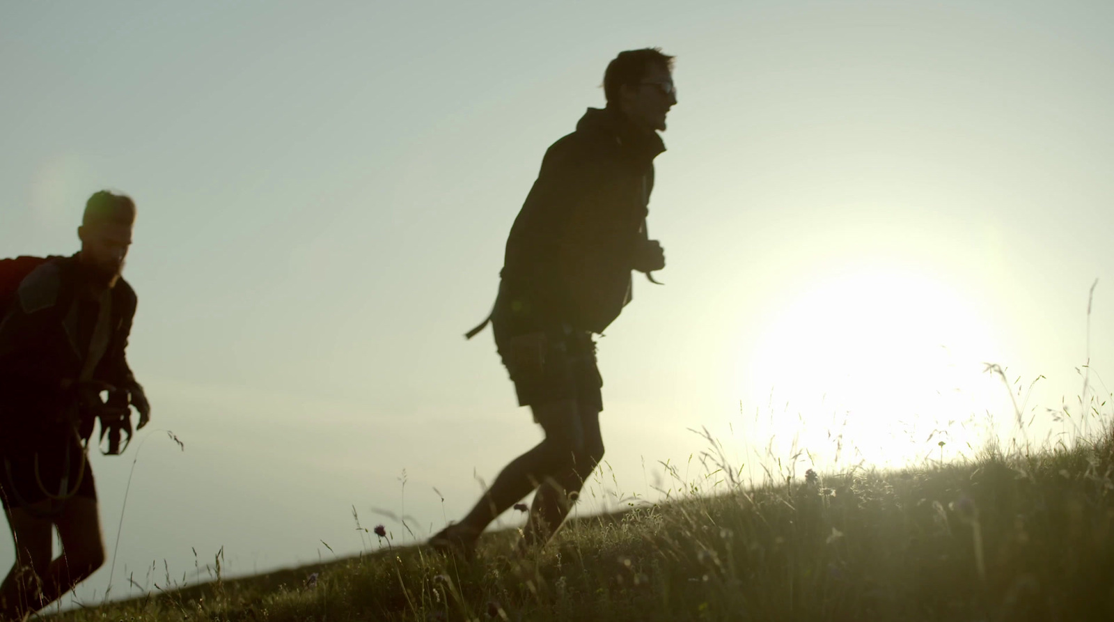
MULTIPOLYGON (((76 391, 61 382, 81 375, 99 310, 78 297, 80 270, 77 255, 43 260, 20 282, 0 321, 0 450, 68 433, 76 391)), ((125 350, 136 294, 119 279, 109 295, 108 344, 90 380, 123 389, 135 383, 125 350)), ((81 436, 92 426, 91 418, 81 418, 81 436)))

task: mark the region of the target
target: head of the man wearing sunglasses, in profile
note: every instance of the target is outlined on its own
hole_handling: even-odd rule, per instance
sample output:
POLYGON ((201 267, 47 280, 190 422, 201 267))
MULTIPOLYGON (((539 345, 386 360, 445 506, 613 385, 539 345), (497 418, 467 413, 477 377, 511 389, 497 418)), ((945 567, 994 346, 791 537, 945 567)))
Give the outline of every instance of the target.
POLYGON ((607 107, 635 125, 665 130, 665 115, 677 103, 672 71, 673 57, 658 48, 619 52, 604 72, 607 107))

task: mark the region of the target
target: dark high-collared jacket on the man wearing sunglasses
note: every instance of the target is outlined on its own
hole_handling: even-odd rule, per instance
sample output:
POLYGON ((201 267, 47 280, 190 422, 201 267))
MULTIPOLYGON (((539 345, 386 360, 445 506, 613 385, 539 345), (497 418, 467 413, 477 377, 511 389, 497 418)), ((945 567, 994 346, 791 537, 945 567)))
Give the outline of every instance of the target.
POLYGON ((603 332, 618 317, 664 150, 657 133, 596 108, 549 147, 507 239, 492 317, 504 333, 560 323, 603 332))

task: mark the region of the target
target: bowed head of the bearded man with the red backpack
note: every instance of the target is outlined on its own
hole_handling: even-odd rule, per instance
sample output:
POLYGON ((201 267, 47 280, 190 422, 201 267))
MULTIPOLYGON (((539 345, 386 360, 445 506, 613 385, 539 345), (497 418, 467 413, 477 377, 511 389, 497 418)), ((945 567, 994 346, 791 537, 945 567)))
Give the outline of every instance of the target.
POLYGON ((113 286, 124 269, 131 245, 136 204, 129 196, 100 191, 85 204, 77 236, 81 239, 81 263, 104 284, 113 286))

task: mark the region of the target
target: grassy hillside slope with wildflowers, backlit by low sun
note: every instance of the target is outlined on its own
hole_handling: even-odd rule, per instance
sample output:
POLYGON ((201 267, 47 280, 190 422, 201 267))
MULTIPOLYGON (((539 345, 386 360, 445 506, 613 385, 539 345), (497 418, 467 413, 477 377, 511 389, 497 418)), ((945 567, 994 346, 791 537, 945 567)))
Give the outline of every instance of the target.
MULTIPOLYGON (((713 478, 722 477, 719 473, 713 478)), ((1114 444, 786 478, 62 614, 104 620, 1114 620, 1114 444)), ((710 480, 710 479, 705 479, 710 480)))

